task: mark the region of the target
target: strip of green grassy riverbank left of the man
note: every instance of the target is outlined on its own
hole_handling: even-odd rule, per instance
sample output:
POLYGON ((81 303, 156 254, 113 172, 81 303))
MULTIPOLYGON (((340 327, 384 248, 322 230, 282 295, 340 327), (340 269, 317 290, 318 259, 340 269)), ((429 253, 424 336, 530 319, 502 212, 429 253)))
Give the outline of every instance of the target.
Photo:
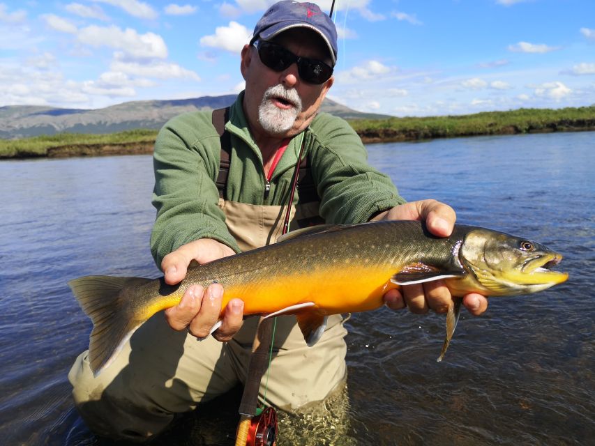
POLYGON ((59 133, 22 139, 0 139, 0 158, 44 157, 56 147, 119 146, 122 144, 153 142, 158 130, 127 130, 109 134, 59 133))

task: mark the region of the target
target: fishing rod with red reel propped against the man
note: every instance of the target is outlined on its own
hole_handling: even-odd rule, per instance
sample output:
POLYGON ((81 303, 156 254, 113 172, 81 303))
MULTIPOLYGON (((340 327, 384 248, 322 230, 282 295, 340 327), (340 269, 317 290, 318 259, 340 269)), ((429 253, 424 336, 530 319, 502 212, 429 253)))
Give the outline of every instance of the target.
MULTIPOLYGON (((329 17, 333 18, 335 0, 331 3, 329 17)), ((304 142, 302 141, 294 174, 292 178, 292 188, 287 200, 287 210, 285 211, 285 220, 283 221, 282 234, 289 231, 289 219, 291 217, 292 203, 297 186, 299 167, 303 155, 304 142)), ((270 361, 273 355, 273 337, 275 336, 276 318, 260 317, 256 334, 252 344, 252 355, 248 364, 248 375, 246 384, 242 393, 239 413, 240 421, 236 431, 235 446, 274 446, 278 433, 277 413, 272 407, 258 408, 258 392, 262 376, 270 367, 270 361), (267 364, 267 360, 269 360, 267 364)), ((266 394, 265 394, 266 397, 266 394)))

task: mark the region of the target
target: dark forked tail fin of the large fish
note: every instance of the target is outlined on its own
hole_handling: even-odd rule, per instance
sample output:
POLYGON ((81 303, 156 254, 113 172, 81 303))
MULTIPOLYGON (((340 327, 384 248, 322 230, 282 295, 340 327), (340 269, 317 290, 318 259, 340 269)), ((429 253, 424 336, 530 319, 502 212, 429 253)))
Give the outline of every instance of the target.
POLYGON ((89 337, 89 364, 93 375, 112 362, 135 328, 143 321, 133 315, 133 301, 123 293, 151 279, 139 277, 86 276, 68 282, 83 311, 93 321, 89 337))

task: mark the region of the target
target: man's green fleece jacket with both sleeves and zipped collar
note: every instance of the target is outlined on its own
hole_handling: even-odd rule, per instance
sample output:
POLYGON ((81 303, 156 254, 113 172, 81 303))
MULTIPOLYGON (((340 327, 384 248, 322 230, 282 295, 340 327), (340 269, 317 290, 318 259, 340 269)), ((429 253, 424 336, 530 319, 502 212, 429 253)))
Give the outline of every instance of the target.
MULTIPOLYGON (((286 204, 303 139, 321 199, 320 216, 326 223, 366 222, 383 210, 405 203, 389 177, 370 167, 366 148, 349 124, 325 113, 318 114, 289 142, 265 197, 262 155, 250 134, 242 99, 240 93, 225 125, 232 141, 226 200, 286 204)), ((199 238, 213 238, 240 252, 217 206, 215 180, 220 153, 220 138, 213 128, 211 112, 176 116, 160 130, 153 154, 153 206, 157 217, 151 233, 151 252, 158 266, 166 254, 199 238)), ((299 203, 297 191, 294 202, 299 203)))

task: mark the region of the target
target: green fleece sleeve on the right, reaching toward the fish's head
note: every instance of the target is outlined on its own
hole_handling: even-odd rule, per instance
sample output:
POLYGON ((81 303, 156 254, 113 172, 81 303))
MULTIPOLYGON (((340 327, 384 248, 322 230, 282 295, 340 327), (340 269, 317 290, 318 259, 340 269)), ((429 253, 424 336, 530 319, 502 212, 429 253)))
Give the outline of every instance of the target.
POLYGON ((367 222, 405 203, 391 178, 368 164, 366 148, 348 123, 326 116, 312 130, 312 174, 327 223, 367 222))

